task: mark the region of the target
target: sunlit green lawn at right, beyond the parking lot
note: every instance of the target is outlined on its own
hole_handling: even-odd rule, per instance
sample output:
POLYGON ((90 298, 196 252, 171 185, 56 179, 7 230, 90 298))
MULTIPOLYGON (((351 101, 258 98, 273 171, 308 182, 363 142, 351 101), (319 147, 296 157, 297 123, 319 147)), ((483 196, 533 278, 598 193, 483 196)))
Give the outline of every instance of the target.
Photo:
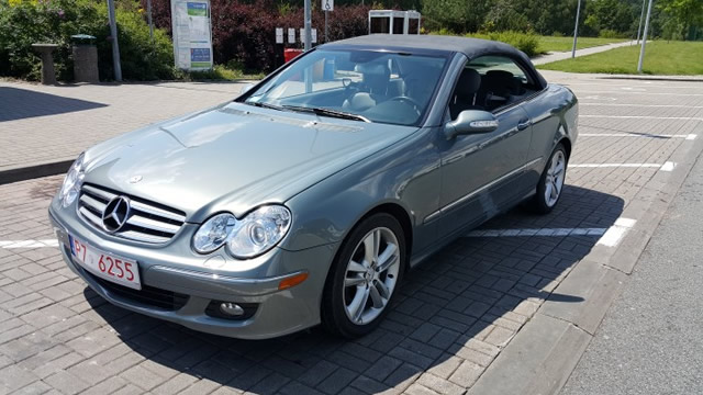
MULTIPOLYGON (((639 46, 620 47, 537 68, 568 72, 637 74, 639 46)), ((643 71, 650 75, 703 75, 703 42, 647 43, 643 71)))

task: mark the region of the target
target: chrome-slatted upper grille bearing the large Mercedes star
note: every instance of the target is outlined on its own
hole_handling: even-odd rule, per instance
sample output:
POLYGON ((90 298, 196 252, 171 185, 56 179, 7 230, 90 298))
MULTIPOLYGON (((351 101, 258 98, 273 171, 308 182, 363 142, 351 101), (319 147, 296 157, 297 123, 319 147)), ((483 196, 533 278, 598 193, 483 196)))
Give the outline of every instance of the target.
POLYGON ((113 235, 131 240, 161 244, 170 240, 186 222, 186 213, 138 198, 121 194, 96 184, 83 184, 78 200, 78 213, 91 225, 103 230, 102 213, 116 196, 130 199, 130 216, 113 235))

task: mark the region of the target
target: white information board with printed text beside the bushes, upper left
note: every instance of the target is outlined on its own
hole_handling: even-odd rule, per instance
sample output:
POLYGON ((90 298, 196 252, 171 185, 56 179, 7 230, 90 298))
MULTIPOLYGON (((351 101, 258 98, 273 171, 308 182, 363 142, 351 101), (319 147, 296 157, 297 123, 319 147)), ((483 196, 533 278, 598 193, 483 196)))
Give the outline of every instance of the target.
POLYGON ((210 0, 171 0, 174 59, 183 70, 212 69, 210 0))

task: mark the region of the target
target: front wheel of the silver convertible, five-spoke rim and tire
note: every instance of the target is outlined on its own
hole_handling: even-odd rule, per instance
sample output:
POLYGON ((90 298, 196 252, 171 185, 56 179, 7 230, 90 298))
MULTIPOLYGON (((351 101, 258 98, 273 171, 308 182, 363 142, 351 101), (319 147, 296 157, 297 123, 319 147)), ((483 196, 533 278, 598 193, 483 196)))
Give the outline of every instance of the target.
POLYGON ((405 237, 395 217, 379 213, 361 221, 330 268, 321 312, 324 327, 348 339, 372 331, 398 293, 405 259, 405 237))

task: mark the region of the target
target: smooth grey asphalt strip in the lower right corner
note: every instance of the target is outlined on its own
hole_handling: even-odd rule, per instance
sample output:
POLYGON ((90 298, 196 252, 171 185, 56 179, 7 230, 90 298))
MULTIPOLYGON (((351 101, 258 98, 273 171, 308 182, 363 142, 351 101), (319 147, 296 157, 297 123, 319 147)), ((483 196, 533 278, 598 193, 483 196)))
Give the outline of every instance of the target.
POLYGON ((562 395, 703 394, 703 158, 562 395))

